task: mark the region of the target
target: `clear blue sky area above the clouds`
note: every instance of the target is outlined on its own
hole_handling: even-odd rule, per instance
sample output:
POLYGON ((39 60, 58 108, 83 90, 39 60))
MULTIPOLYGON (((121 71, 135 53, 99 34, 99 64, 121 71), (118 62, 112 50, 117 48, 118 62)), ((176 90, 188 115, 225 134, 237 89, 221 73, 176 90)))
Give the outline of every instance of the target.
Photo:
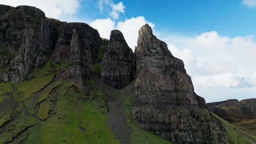
MULTIPOLYGON (((119 21, 144 16, 159 32, 196 35, 218 31, 219 35, 229 37, 256 32, 256 9, 242 4, 241 0, 122 2, 126 9, 119 21)), ((98 13, 97 1, 82 1, 81 5, 78 16, 83 19, 85 15, 89 21, 109 17, 108 13, 98 13)))

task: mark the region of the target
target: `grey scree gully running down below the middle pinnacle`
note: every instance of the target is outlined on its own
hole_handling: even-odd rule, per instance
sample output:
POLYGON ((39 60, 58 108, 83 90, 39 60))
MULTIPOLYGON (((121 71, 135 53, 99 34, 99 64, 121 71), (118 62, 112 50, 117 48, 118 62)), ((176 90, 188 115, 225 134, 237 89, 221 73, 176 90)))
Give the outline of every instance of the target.
POLYGON ((100 75, 94 74, 92 79, 105 95, 108 110, 108 120, 106 124, 112 129, 115 138, 118 139, 120 143, 131 144, 130 136, 132 129, 126 122, 125 101, 123 99, 130 96, 132 86, 129 85, 121 90, 117 90, 102 83, 100 81, 100 75))

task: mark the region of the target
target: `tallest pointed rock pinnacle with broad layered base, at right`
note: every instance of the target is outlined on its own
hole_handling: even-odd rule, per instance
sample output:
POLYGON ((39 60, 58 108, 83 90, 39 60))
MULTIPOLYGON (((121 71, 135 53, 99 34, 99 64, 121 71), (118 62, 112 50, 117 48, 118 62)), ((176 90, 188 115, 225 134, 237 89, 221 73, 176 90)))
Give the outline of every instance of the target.
POLYGON ((174 143, 228 143, 223 124, 194 92, 181 59, 157 39, 149 25, 139 29, 132 117, 145 130, 174 143))

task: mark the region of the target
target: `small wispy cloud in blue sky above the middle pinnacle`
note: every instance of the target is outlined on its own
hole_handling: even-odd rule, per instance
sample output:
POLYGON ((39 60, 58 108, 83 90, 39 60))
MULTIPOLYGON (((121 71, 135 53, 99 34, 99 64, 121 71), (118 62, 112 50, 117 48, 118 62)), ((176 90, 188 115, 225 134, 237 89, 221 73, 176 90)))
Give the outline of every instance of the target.
POLYGON ((103 11, 108 11, 113 19, 118 19, 120 13, 125 13, 125 5, 123 2, 114 4, 112 0, 100 0, 98 1, 97 7, 100 9, 101 13, 103 13, 103 11))

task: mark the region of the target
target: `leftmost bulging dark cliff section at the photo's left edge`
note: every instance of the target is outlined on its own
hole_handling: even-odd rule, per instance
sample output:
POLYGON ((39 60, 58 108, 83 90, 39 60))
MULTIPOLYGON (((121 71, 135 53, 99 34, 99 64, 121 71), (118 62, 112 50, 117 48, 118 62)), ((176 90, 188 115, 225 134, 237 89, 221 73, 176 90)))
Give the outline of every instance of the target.
POLYGON ((37 56, 47 52, 48 22, 43 11, 34 7, 0 5, 0 9, 0 49, 4 51, 0 65, 8 69, 4 75, 11 82, 20 82, 34 67, 37 56))

